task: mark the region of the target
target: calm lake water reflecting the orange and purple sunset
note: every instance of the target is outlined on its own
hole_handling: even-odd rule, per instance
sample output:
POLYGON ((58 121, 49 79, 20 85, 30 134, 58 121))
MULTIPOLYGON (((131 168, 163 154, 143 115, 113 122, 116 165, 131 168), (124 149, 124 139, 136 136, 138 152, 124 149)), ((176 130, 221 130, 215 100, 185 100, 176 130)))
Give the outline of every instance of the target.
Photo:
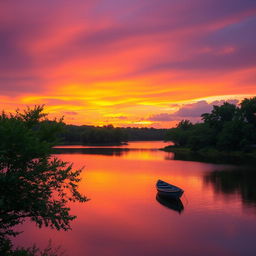
POLYGON ((119 148, 59 149, 62 160, 85 166, 73 204, 72 231, 19 227, 17 245, 49 239, 68 255, 256 255, 256 176, 230 165, 173 160, 162 142, 119 148), (156 198, 163 179, 185 190, 181 202, 156 198))

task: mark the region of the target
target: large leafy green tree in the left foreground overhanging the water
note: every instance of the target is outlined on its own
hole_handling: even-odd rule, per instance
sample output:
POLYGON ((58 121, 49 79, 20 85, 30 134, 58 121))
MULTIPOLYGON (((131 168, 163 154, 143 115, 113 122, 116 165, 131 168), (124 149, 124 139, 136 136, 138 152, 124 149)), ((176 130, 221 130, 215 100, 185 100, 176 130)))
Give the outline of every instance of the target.
POLYGON ((13 226, 26 218, 68 230, 75 216, 67 203, 87 200, 78 191, 81 170, 51 156, 62 127, 43 106, 0 115, 0 241, 16 235, 13 226))

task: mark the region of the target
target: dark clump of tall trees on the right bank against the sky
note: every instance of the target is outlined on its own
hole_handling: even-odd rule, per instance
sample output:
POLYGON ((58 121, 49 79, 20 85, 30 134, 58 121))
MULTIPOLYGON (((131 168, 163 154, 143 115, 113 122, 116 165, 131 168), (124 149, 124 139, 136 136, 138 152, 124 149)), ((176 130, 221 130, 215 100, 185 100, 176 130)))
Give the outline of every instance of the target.
POLYGON ((175 146, 193 151, 253 151, 256 147, 256 97, 245 98, 239 105, 228 102, 213 106, 201 115, 202 122, 182 120, 166 133, 175 146))

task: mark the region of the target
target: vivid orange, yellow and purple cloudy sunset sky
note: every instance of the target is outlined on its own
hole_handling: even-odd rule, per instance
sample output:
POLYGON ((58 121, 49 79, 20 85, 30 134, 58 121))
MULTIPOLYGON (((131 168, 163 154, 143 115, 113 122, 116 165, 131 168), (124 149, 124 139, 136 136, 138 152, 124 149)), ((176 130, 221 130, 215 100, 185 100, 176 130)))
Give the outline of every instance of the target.
POLYGON ((169 128, 256 95, 256 0, 0 1, 0 108, 169 128))

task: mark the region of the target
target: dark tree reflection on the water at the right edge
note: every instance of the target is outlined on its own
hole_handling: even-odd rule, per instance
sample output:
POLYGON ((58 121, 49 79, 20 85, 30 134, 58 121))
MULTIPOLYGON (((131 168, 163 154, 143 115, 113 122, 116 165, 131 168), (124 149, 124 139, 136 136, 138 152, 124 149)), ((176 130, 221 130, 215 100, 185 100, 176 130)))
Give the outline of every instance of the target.
POLYGON ((239 194, 244 205, 256 207, 255 169, 214 171, 207 174, 204 181, 212 184, 216 193, 239 194))

